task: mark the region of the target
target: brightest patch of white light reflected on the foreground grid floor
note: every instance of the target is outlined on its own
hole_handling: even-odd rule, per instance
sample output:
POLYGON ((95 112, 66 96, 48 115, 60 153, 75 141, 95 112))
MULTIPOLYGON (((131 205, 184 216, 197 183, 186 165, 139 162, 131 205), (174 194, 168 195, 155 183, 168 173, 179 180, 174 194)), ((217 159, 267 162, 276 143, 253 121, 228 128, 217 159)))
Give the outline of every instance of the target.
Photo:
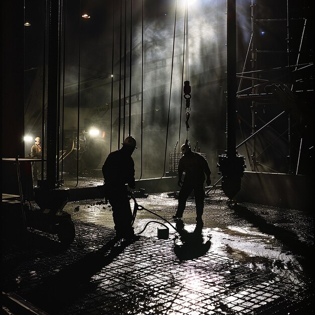
POLYGON ((171 305, 172 310, 190 314, 193 313, 191 312, 191 305, 194 305, 196 313, 199 311, 204 313, 204 309, 207 309, 206 313, 209 314, 221 313, 222 309, 225 311, 230 309, 233 311, 232 313, 252 312, 262 305, 279 299, 279 291, 275 290, 275 286, 279 285, 283 279, 291 278, 289 274, 279 273, 278 270, 275 273, 275 280, 258 281, 256 285, 253 283, 251 287, 239 291, 235 288, 229 288, 235 279, 230 272, 226 271, 226 267, 225 265, 222 268, 222 273, 214 272, 211 274, 211 270, 209 270, 209 275, 203 278, 194 272, 195 269, 187 266, 186 273, 180 275, 182 277, 181 286, 177 287, 177 295, 171 305), (226 274, 229 275, 226 276, 226 274), (277 283, 277 281, 280 282, 277 283), (209 296, 206 299, 204 298, 205 294, 209 296))

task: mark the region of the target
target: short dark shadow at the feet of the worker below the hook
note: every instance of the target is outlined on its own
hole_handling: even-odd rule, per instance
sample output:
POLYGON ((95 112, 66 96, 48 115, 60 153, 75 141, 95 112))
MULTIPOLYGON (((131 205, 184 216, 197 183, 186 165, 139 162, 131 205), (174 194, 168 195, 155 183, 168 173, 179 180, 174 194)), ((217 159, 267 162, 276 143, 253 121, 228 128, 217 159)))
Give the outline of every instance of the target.
POLYGON ((203 220, 197 220, 196 227, 193 232, 188 232, 184 228, 183 220, 176 222, 176 228, 180 234, 180 240, 182 244, 176 244, 174 252, 180 261, 192 260, 205 255, 210 246, 210 238, 204 242, 202 234, 203 220))

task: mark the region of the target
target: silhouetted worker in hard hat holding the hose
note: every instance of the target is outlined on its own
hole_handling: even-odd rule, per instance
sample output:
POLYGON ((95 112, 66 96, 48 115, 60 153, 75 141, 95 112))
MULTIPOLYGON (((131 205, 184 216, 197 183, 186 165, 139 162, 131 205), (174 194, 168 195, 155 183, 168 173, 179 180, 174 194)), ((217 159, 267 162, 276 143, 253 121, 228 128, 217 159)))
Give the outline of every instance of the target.
POLYGON ((105 198, 113 210, 116 237, 133 241, 138 239, 132 227, 128 187, 135 188, 134 162, 131 157, 136 140, 128 136, 119 150, 109 153, 103 167, 105 198))

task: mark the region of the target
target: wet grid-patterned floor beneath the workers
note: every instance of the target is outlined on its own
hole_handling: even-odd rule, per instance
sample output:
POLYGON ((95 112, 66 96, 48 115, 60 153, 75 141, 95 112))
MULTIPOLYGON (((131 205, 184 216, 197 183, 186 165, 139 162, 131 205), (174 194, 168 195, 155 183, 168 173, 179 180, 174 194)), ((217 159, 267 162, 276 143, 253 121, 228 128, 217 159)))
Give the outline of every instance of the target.
MULTIPOLYGON (((175 225, 175 198, 152 194, 137 202, 175 225)), ((151 222, 139 241, 127 243, 113 241, 111 210, 102 200, 68 203, 66 211, 76 229, 68 249, 35 230, 24 242, 3 242, 3 290, 48 314, 312 314, 307 213, 231 208, 216 192, 205 201, 198 237, 190 199, 185 238, 170 225, 169 239, 158 239, 162 226, 151 222)), ((138 211, 135 231, 151 220, 162 222, 138 211)))

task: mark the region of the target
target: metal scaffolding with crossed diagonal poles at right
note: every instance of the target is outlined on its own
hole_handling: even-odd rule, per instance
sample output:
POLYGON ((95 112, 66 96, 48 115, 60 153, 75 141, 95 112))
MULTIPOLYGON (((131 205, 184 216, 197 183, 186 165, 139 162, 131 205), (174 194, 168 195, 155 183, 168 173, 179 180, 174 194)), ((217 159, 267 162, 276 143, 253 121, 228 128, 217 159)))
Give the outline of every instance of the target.
MULTIPOLYGON (((291 159, 291 150, 292 150, 292 138, 291 138, 291 129, 292 129, 292 112, 296 112, 296 110, 292 110, 292 108, 296 107, 296 101, 297 101, 297 95, 300 94, 311 94, 313 92, 312 88, 306 89, 303 91, 299 91, 298 89, 295 89, 295 86, 298 83, 298 79, 296 79, 296 73, 298 73, 299 70, 308 69, 311 72, 312 68, 312 60, 309 62, 300 62, 300 55, 302 51, 302 44, 305 36, 305 29, 307 25, 307 19, 305 17, 301 18, 290 18, 289 17, 289 3, 288 0, 286 1, 286 19, 258 19, 257 14, 257 4, 259 3, 259 0, 251 0, 251 36, 248 44, 248 49, 245 57, 245 61, 243 64, 243 70, 242 72, 237 73, 237 78, 239 79, 239 85, 237 90, 237 104, 240 106, 242 104, 242 101, 247 100, 251 102, 251 122, 247 122, 243 119, 243 117, 238 113, 238 120, 240 124, 240 130, 243 137, 243 142, 237 145, 237 148, 241 145, 245 145, 248 161, 250 164, 251 171, 257 172, 260 171, 261 167, 264 168, 264 171, 272 172, 272 173, 278 173, 276 170, 272 168, 268 168, 267 166, 262 165, 258 158, 263 153, 257 152, 257 137, 263 137, 264 135, 261 133, 262 130, 264 130, 267 126, 269 128, 272 128, 271 123, 275 121, 278 117, 287 114, 287 128, 285 128, 284 132, 278 133, 277 137, 274 141, 270 142, 268 147, 271 146, 273 149, 277 149, 277 147, 274 145, 273 142, 276 140, 283 138, 284 136, 287 136, 288 141, 288 151, 287 151, 287 164, 288 174, 298 174, 299 169, 299 163, 300 163, 300 154, 301 154, 301 143, 302 138, 300 139, 299 143, 299 152, 298 152, 298 159, 297 163, 293 163, 291 159), (291 33, 290 33, 290 23, 293 21, 300 20, 303 21, 301 25, 300 30, 300 38, 299 38, 299 47, 297 52, 296 60, 294 60, 293 64, 291 64, 291 47, 290 47, 290 41, 291 41, 291 33), (258 49, 257 45, 257 37, 258 37, 258 28, 260 23, 286 23, 286 65, 285 66, 279 66, 279 67, 272 67, 272 68, 265 68, 265 69, 259 69, 258 67, 258 61, 261 54, 278 54, 283 53, 284 51, 278 51, 278 50, 263 50, 258 49), (251 57, 251 59, 249 59, 251 57), (250 71, 246 71, 246 67, 250 63, 250 71), (276 76, 277 80, 275 80, 274 75, 275 73, 281 74, 281 72, 285 72, 285 75, 279 75, 279 77, 276 76), (270 78, 262 78, 262 74, 268 75, 270 74, 270 78), (293 80, 289 81, 288 78, 293 78, 293 80), (250 86, 243 87, 244 83, 251 83, 250 86), (269 89, 266 89, 266 87, 269 87, 269 89), (270 88, 271 87, 271 88, 270 88), (262 92, 262 89, 265 91, 262 92), (267 90, 267 91, 266 91, 267 90), (268 122, 263 121, 261 117, 257 114, 257 108, 260 106, 265 106, 266 104, 280 104, 284 106, 285 110, 282 111, 279 115, 276 115, 273 119, 271 119, 268 122), (245 121, 248 127, 251 129, 251 135, 249 137, 246 137, 241 121, 245 121), (260 121, 263 123, 263 126, 257 130, 256 123, 257 121, 260 121), (251 147, 252 150, 250 150, 250 146, 248 145, 248 141, 251 139, 251 147), (250 152, 251 151, 251 152, 250 152)), ((273 130, 276 132, 275 130, 273 130)), ((265 149, 263 150, 265 151, 265 149)))

